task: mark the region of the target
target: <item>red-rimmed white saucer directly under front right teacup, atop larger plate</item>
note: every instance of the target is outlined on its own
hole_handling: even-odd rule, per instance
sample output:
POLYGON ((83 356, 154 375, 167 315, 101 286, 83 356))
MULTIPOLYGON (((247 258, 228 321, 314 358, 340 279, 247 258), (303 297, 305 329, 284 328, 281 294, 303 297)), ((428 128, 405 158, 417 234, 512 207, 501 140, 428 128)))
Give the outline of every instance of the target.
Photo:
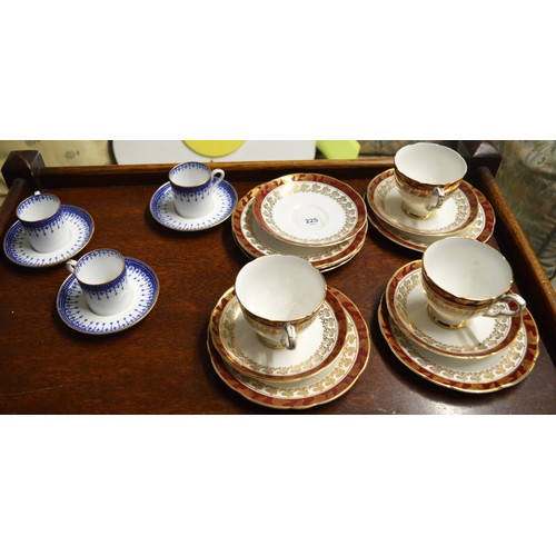
POLYGON ((391 318, 406 336, 440 355, 461 358, 490 356, 508 347, 522 326, 522 317, 476 317, 463 328, 445 328, 428 315, 421 286, 421 261, 399 268, 385 294, 391 318))

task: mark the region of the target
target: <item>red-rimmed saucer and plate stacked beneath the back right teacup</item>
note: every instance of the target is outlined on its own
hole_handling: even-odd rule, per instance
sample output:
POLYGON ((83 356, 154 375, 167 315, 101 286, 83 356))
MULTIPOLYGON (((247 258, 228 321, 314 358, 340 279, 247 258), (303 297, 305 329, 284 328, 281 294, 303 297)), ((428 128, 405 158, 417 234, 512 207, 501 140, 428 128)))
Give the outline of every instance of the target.
POLYGON ((417 219, 401 209, 394 168, 379 173, 367 187, 370 224, 383 236, 416 251, 449 236, 487 241, 493 235, 495 214, 486 197, 461 181, 431 218, 417 219))

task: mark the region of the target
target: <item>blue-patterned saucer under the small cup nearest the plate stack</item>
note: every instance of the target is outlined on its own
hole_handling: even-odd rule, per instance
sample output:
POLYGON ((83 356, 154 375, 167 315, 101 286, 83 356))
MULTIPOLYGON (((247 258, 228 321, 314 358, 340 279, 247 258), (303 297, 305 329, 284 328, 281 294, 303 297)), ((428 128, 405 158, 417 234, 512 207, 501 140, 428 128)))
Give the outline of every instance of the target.
POLYGON ((215 206, 208 215, 199 218, 183 218, 176 211, 172 190, 168 181, 155 191, 150 199, 150 212, 158 222, 172 230, 206 230, 224 222, 234 212, 238 202, 238 193, 225 180, 217 185, 212 195, 215 206))

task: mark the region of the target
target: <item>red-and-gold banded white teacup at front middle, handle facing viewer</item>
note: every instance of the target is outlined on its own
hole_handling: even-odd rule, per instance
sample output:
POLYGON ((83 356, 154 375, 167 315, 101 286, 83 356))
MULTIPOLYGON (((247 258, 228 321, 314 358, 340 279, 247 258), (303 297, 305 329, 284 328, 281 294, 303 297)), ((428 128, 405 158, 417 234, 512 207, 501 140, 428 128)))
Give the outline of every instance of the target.
POLYGON ((291 255, 266 255, 236 278, 241 311, 259 340, 271 348, 296 349, 298 337, 316 319, 326 297, 322 275, 291 255))

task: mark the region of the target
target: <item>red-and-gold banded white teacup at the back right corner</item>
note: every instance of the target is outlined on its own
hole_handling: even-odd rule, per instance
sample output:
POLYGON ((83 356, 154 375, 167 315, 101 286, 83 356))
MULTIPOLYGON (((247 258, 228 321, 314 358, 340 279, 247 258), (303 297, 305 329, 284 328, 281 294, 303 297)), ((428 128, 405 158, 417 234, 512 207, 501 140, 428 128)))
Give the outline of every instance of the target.
POLYGON ((449 147, 418 142, 396 152, 394 170, 403 210, 414 218, 429 218, 459 187, 467 163, 449 147))

